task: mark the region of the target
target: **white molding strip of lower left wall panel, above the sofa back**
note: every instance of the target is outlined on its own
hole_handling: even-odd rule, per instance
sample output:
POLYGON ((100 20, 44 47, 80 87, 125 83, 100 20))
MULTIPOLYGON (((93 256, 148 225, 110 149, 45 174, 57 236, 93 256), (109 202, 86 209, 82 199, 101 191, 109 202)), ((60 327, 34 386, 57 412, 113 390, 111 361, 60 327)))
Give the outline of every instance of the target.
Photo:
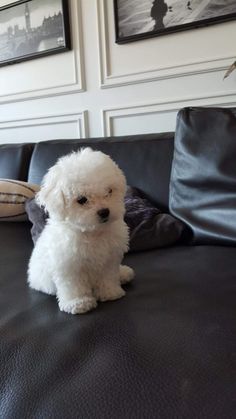
POLYGON ((76 123, 78 138, 86 138, 89 136, 88 129, 88 111, 48 114, 40 116, 30 116, 26 118, 17 118, 0 121, 0 131, 30 128, 42 125, 60 125, 76 123))

